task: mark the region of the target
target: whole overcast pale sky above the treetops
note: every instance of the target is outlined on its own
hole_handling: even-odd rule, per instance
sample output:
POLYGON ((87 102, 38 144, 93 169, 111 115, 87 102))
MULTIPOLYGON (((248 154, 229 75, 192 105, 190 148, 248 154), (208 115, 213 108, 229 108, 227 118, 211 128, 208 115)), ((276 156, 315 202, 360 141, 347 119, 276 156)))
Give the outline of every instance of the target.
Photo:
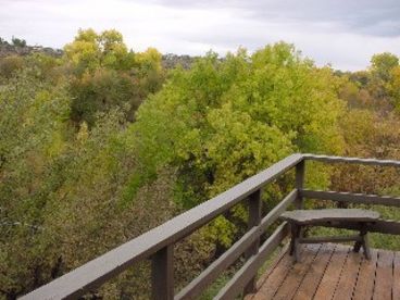
POLYGON ((115 28, 135 51, 221 54, 292 42, 318 65, 361 70, 400 55, 400 0, 0 0, 0 37, 62 48, 78 28, 115 28))

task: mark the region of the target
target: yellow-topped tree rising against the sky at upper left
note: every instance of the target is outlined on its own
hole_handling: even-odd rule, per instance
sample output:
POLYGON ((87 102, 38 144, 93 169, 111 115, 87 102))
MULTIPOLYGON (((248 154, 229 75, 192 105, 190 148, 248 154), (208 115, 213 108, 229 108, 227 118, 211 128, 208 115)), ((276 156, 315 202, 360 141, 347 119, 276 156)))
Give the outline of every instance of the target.
POLYGON ((126 110, 133 121, 141 101, 164 79, 161 54, 151 48, 128 51, 116 30, 80 29, 64 50, 64 61, 72 66, 72 118, 77 124, 85 121, 92 126, 97 113, 114 108, 126 110))

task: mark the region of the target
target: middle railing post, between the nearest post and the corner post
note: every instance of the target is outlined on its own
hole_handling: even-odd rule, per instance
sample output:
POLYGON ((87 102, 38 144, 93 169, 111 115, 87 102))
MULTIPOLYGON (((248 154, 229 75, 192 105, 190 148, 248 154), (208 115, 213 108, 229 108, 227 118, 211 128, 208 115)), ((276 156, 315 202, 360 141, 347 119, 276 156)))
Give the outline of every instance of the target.
MULTIPOLYGON (((261 222, 261 190, 257 190, 249 197, 249 220, 248 227, 249 229, 253 226, 260 225, 261 222)), ((254 255, 259 252, 260 247, 260 238, 258 238, 254 243, 252 243, 249 249, 246 251, 246 259, 249 259, 251 255, 254 255)), ((250 279, 243 290, 243 295, 255 292, 257 290, 257 278, 255 276, 250 279)))

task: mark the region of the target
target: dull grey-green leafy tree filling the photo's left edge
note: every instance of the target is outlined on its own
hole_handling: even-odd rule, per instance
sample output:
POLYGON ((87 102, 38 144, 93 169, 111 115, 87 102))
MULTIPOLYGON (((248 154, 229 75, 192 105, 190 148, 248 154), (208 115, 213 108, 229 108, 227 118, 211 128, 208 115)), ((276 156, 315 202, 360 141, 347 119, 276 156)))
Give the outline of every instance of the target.
POLYGON ((10 299, 45 283, 57 268, 57 246, 42 227, 57 180, 70 102, 65 89, 23 72, 0 90, 0 286, 10 299), (33 274, 37 274, 33 276, 33 274))

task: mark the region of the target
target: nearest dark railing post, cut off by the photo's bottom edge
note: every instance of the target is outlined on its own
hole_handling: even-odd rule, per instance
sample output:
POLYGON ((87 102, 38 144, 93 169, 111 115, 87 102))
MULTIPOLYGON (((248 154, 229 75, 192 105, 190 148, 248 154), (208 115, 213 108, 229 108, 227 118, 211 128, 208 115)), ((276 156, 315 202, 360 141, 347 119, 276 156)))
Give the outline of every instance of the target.
POLYGON ((151 295, 154 300, 174 299, 174 246, 155 252, 151 260, 151 295))

